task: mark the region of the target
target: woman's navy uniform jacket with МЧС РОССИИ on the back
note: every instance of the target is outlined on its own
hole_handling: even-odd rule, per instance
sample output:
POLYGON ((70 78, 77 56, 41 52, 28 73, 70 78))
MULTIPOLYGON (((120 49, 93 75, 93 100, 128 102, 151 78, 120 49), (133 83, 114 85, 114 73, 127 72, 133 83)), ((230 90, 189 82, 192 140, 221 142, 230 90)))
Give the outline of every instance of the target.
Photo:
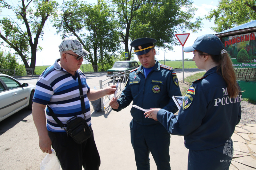
POLYGON ((230 98, 217 67, 194 81, 187 90, 178 115, 159 110, 157 119, 170 134, 184 135, 185 146, 206 150, 224 145, 241 118, 241 97, 230 98))

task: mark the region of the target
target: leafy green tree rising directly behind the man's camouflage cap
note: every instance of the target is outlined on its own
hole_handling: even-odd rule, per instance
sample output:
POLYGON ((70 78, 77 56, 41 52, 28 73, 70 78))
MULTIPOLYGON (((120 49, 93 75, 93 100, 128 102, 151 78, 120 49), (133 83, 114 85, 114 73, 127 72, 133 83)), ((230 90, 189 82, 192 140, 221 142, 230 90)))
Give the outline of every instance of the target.
POLYGON ((104 61, 109 61, 111 53, 119 50, 117 24, 113 18, 104 1, 92 5, 72 0, 62 4, 62 14, 55 18, 54 26, 63 38, 74 35, 79 39, 84 49, 91 53, 85 60, 92 63, 94 71, 97 71, 98 60, 100 68, 104 68, 104 61))

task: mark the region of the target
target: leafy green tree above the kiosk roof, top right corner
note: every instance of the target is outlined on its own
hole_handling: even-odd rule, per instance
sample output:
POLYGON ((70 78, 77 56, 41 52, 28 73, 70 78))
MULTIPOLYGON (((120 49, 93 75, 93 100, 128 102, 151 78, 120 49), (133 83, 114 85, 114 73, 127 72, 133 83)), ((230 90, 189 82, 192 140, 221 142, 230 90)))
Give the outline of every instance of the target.
POLYGON ((210 11, 206 19, 212 20, 215 32, 222 32, 256 19, 255 0, 220 0, 218 9, 210 11))

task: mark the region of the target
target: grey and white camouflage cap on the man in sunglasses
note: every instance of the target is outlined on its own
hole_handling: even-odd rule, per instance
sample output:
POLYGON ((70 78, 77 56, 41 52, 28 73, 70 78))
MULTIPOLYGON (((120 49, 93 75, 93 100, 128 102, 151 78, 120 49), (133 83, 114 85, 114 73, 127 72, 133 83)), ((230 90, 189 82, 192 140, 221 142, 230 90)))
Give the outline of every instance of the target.
POLYGON ((88 51, 86 51, 83 48, 82 44, 79 42, 79 40, 76 37, 64 38, 61 44, 59 45, 59 48, 60 48, 59 52, 71 50, 77 55, 83 56, 83 57, 90 54, 88 51))

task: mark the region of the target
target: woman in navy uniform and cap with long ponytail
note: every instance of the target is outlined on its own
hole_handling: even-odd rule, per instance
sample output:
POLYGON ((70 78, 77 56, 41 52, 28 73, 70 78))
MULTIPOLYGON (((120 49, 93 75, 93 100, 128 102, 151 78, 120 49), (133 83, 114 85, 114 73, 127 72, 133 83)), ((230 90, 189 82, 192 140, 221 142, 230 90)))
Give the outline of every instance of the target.
POLYGON ((184 52, 193 52, 196 66, 206 73, 188 88, 178 115, 154 108, 145 112, 146 117, 157 118, 170 134, 184 136, 189 170, 228 169, 242 97, 232 61, 211 34, 198 37, 184 52))

